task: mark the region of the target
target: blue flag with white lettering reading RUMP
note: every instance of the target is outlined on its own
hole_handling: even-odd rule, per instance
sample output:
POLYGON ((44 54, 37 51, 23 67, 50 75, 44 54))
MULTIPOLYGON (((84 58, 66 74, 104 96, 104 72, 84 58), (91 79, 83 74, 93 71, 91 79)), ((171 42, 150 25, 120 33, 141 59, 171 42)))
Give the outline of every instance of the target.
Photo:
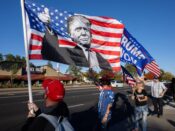
POLYGON ((126 28, 124 29, 124 35, 122 37, 121 48, 121 61, 135 66, 140 76, 145 66, 154 61, 148 51, 126 30, 126 28))

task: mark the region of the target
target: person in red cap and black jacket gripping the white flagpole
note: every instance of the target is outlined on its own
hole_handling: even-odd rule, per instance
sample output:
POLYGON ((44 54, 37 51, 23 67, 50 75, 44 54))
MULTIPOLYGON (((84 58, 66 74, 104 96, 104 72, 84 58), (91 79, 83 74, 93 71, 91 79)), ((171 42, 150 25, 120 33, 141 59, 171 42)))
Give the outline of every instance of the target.
MULTIPOLYGON (((69 117, 69 109, 63 101, 65 89, 59 80, 45 79, 43 81, 44 108, 40 109, 34 102, 28 103, 28 116, 21 131, 55 131, 55 127, 41 113, 54 118, 69 117)), ((73 127, 72 127, 73 128, 73 127)))

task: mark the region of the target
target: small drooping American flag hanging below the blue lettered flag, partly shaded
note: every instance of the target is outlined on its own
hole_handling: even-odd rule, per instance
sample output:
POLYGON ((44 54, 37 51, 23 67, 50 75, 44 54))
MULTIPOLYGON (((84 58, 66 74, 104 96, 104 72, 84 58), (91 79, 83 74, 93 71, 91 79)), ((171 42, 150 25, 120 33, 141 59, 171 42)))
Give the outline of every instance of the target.
POLYGON ((121 66, 121 67, 122 67, 122 71, 123 71, 124 81, 131 87, 135 86, 136 81, 133 78, 133 76, 123 66, 121 66))

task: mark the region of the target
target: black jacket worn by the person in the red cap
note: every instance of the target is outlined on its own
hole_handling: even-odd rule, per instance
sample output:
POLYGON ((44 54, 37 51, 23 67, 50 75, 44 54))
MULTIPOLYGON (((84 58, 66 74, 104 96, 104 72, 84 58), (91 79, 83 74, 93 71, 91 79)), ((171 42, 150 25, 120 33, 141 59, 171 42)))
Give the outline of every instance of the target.
MULTIPOLYGON (((31 117, 27 119, 21 131, 55 131, 55 128, 49 121, 47 121, 44 117, 38 117, 38 115, 41 114, 41 110, 38 110, 35 114, 36 117, 31 117)), ((57 117, 68 117, 69 110, 65 102, 60 102, 53 110, 46 114, 57 117)))

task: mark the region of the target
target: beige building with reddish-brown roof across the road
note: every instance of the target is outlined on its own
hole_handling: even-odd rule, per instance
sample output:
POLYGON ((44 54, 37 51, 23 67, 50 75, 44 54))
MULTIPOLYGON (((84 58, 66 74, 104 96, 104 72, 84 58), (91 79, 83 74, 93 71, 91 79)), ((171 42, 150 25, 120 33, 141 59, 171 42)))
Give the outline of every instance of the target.
MULTIPOLYGON (((13 74, 11 71, 0 69, 0 87, 4 85, 7 87, 13 87, 14 85, 26 83, 27 74, 24 70, 25 69, 21 68, 17 73, 13 74)), ((75 77, 58 72, 47 65, 31 68, 31 81, 33 86, 40 85, 44 79, 59 79, 64 84, 72 84, 76 81, 75 77)))

